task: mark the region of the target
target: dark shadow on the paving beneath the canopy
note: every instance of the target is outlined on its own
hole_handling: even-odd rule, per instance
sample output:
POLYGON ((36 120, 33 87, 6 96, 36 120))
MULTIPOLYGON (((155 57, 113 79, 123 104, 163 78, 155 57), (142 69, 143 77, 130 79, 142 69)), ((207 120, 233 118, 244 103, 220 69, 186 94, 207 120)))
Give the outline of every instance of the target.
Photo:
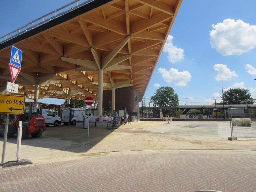
MULTIPOLYGON (((22 140, 22 145, 63 150, 73 153, 86 153, 90 148, 115 130, 116 129, 107 129, 105 127, 91 127, 90 137, 88 138, 88 129, 75 127, 74 125, 49 126, 40 138, 32 138, 30 136, 29 139, 22 140)), ((0 141, 3 142, 3 137, 0 138, 0 141)), ((7 142, 16 144, 17 136, 8 138, 7 142)))

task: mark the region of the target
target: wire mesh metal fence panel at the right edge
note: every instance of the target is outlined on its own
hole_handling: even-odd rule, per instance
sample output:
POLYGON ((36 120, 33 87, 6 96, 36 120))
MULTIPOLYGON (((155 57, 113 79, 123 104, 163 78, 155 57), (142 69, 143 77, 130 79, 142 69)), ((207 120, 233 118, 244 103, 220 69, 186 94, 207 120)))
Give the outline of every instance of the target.
POLYGON ((231 137, 256 137, 256 109, 228 110, 231 137))

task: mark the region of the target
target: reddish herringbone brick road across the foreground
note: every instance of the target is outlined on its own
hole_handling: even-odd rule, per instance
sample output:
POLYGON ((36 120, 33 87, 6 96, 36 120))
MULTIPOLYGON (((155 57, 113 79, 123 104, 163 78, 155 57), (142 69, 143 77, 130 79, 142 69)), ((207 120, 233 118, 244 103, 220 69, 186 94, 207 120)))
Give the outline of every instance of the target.
POLYGON ((256 191, 256 152, 139 151, 0 169, 0 191, 256 191))

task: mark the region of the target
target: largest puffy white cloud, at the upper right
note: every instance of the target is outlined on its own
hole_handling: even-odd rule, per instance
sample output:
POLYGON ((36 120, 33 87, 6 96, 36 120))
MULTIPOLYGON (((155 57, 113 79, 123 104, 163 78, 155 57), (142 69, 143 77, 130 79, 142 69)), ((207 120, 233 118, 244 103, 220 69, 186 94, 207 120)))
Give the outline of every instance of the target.
POLYGON ((225 19, 212 25, 210 43, 223 56, 240 55, 256 46, 256 25, 242 20, 225 19))

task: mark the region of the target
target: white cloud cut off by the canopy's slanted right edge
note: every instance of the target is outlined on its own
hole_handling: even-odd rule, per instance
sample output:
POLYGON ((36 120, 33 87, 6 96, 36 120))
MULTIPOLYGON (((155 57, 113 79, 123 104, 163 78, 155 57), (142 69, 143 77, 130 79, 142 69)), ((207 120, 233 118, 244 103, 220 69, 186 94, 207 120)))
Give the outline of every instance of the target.
POLYGON ((181 48, 177 48, 177 46, 174 46, 172 41, 173 36, 168 35, 165 46, 163 47, 163 52, 168 54, 168 60, 171 63, 176 63, 184 59, 184 50, 181 48))

